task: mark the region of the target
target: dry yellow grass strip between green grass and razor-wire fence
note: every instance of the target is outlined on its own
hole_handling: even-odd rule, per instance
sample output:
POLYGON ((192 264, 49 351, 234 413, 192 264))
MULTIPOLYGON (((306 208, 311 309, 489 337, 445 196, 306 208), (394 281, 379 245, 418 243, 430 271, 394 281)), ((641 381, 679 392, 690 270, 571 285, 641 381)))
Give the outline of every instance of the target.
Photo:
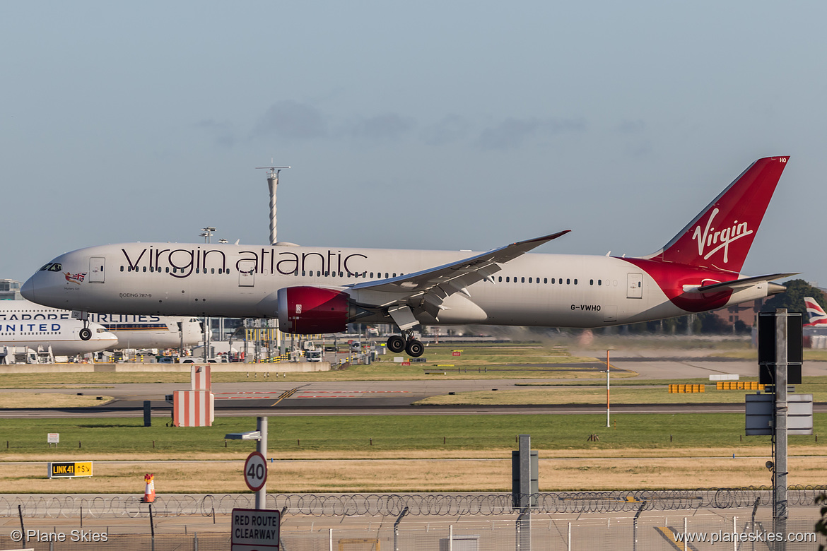
MULTIPOLYGON (((500 456, 502 457, 502 456, 500 456)), ((768 486, 767 457, 545 458, 540 489, 588 491, 644 488, 768 486)), ((790 484, 822 484, 827 457, 790 458, 790 484)), ((0 464, 4 493, 136 493, 145 473, 159 493, 247 492, 243 461, 95 463, 90 478, 48 479, 41 462, 0 464)), ((510 458, 280 460, 270 463, 267 490, 279 492, 506 492, 510 458)))

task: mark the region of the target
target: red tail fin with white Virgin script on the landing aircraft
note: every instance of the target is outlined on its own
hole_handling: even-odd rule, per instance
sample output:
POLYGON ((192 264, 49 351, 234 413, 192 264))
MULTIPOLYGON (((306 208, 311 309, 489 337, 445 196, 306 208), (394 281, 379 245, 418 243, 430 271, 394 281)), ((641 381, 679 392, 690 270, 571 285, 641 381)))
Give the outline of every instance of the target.
POLYGON ((755 161, 663 249, 646 258, 740 272, 787 159, 755 161))

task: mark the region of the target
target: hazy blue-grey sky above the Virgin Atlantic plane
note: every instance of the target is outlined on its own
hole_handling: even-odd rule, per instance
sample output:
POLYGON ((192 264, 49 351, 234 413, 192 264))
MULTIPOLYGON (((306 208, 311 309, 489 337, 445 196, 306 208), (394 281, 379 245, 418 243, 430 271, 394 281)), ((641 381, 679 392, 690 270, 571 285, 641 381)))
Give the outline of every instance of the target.
POLYGON ((0 278, 134 241, 649 254, 791 155, 743 273, 827 287, 825 2, 0 2, 0 278), (808 207, 809 205, 809 207, 808 207))

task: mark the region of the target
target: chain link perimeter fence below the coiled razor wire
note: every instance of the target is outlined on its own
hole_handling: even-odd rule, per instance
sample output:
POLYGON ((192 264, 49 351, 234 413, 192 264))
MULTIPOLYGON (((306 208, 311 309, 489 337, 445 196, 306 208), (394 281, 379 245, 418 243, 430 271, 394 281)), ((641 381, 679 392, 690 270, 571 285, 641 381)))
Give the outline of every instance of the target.
MULTIPOLYGON (((405 516, 353 517, 342 523, 327 517, 315 522, 289 515, 282 520, 280 551, 814 551, 825 544, 813 532, 811 515, 791 518, 783 532, 772 524, 772 511, 654 512, 651 515, 533 515, 530 522, 514 516, 447 520, 405 516), (304 520, 304 522, 303 522, 304 520), (771 535, 772 534, 772 535, 771 535), (784 546, 778 544, 781 534, 784 546), (684 544, 686 539, 686 544, 684 544)), ((810 512, 813 508, 810 508, 810 512)), ((817 507, 815 508, 817 510, 817 507)), ((798 513, 807 511, 796 511, 798 513)), ((184 519, 181 519, 184 520, 184 519)), ((227 515, 218 525, 195 525, 192 517, 174 525, 146 530, 123 520, 84 522, 71 530, 56 520, 26 520, 26 528, 7 523, 0 529, 0 549, 26 547, 35 551, 226 551, 232 534, 227 515), (30 525, 31 524, 31 525, 30 525), (189 532, 187 531, 189 527, 189 532), (80 540, 78 533, 86 534, 80 540), (23 534, 26 534, 25 536, 23 534), (98 539, 94 539, 98 536, 98 539)), ((70 525, 71 526, 71 525, 70 525)), ((143 527, 141 527, 143 528, 143 527)), ((259 549, 272 549, 259 548, 259 549)))

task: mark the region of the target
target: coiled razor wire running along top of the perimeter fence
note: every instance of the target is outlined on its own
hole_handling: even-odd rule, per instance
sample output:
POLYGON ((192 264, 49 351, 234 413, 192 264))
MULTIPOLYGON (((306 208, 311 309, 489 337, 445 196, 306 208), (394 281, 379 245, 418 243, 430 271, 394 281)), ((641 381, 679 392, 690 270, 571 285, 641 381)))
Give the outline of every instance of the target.
MULTIPOLYGON (((813 506, 827 486, 787 488, 789 506, 813 506)), ((512 493, 473 494, 268 494, 267 509, 313 516, 462 516, 514 515, 512 493)), ((233 509, 254 506, 253 494, 156 496, 0 496, 0 516, 22 514, 45 518, 117 518, 187 515, 229 515, 233 509), (19 509, 18 509, 19 507, 19 509)), ((532 494, 533 513, 610 513, 624 511, 681 511, 730 509, 772 504, 772 487, 698 488, 695 490, 638 490, 607 492, 539 492, 532 494)), ((519 502, 519 500, 518 500, 519 502)))

